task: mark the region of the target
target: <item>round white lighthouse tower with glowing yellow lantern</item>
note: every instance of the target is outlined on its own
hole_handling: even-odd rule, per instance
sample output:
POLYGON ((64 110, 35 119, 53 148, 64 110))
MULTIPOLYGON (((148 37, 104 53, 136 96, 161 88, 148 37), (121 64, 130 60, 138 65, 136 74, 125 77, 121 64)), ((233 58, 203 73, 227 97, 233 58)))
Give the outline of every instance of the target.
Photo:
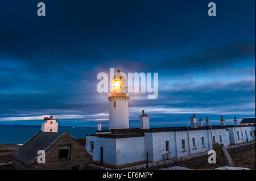
POLYGON ((128 129, 130 94, 126 92, 126 78, 119 70, 112 78, 111 90, 108 94, 110 102, 109 129, 128 129))

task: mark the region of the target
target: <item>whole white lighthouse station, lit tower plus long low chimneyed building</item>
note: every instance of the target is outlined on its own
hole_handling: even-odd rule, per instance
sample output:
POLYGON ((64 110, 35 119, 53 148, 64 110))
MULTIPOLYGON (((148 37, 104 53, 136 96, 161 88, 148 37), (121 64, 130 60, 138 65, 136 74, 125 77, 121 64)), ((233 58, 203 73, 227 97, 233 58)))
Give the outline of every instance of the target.
POLYGON ((221 125, 211 126, 208 118, 205 126, 201 119, 198 124, 193 115, 191 127, 150 128, 149 116, 143 111, 141 127, 129 129, 130 97, 124 89, 126 80, 119 75, 118 71, 109 94, 110 130, 101 130, 101 125, 98 125, 96 134, 86 136, 86 150, 92 154, 94 162, 120 168, 146 163, 147 155, 149 162, 162 161, 208 151, 214 142, 228 146, 255 139, 255 126, 225 125, 222 116, 221 125), (119 88, 121 83, 123 86, 119 88))

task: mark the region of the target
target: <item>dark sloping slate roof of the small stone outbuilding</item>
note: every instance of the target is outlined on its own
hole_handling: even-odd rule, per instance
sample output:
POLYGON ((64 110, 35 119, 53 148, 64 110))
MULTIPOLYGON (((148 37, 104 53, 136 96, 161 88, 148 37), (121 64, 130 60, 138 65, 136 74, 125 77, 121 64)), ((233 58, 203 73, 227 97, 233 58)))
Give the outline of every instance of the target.
POLYGON ((38 150, 46 151, 63 134, 39 131, 30 140, 15 150, 14 157, 26 163, 26 165, 30 165, 38 157, 38 150))

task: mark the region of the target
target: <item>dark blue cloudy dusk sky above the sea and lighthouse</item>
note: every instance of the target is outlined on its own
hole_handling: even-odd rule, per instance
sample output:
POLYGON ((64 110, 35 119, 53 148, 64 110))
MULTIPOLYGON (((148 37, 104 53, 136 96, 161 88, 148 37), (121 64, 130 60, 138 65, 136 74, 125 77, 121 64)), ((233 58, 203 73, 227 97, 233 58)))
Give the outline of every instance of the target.
POLYGON ((159 96, 131 94, 130 123, 219 124, 255 117, 255 1, 41 1, 0 3, 0 124, 108 125, 97 74, 157 72, 159 96))

